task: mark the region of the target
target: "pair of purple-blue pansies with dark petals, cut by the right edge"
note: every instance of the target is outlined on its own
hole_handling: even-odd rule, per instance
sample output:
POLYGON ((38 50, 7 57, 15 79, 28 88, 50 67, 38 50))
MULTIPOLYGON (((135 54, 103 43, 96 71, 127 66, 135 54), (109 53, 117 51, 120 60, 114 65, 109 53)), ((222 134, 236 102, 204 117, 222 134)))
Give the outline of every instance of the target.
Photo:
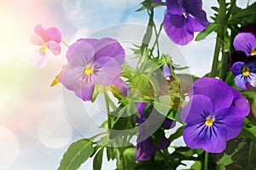
POLYGON ((232 73, 236 77, 236 87, 242 90, 256 87, 255 26, 241 28, 233 42, 236 52, 231 55, 232 73))

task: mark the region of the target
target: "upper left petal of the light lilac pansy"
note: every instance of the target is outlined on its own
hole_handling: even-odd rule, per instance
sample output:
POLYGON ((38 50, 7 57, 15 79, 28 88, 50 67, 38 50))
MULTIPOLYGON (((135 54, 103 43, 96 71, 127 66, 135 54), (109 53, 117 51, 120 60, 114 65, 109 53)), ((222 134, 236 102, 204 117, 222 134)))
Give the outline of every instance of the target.
POLYGON ((84 68, 92 62, 95 51, 88 42, 77 41, 74 42, 67 49, 67 61, 73 67, 83 66, 84 68))

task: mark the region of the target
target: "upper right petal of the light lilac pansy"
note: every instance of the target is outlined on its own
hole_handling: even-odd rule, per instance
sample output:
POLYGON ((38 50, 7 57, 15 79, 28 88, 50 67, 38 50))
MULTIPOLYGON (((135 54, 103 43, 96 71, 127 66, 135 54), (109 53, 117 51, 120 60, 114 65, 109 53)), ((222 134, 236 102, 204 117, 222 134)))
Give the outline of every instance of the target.
POLYGON ((115 39, 104 37, 95 42, 95 60, 108 56, 116 59, 119 65, 125 61, 125 49, 115 39))

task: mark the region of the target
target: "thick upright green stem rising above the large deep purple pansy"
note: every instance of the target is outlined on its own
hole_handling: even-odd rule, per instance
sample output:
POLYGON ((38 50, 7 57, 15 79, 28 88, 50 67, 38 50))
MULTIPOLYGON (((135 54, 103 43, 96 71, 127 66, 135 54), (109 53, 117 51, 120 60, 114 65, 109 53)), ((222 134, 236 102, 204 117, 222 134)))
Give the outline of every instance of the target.
POLYGON ((224 26, 226 22, 225 15, 226 15, 225 0, 219 0, 217 38, 215 42, 215 49, 214 49, 213 61, 212 61, 212 71, 210 73, 210 77, 218 76, 218 65, 221 64, 221 62, 219 63, 218 61, 218 56, 219 56, 220 49, 223 48, 222 40, 224 39, 224 26))

